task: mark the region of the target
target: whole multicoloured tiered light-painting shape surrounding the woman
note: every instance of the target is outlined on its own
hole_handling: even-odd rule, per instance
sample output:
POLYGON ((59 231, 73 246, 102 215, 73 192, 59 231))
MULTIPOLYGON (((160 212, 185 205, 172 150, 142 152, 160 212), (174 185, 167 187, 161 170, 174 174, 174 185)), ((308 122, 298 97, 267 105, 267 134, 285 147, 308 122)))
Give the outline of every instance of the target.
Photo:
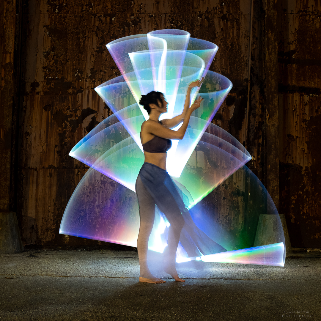
MULTIPOLYGON (((113 115, 97 125, 69 154, 90 169, 69 200, 60 233, 136 246, 139 212, 135 180, 144 162, 139 132, 148 119, 138 101, 142 94, 152 90, 164 92, 169 102, 168 113, 160 119, 174 117, 182 111, 188 84, 204 77, 201 88, 191 92, 191 103, 201 94, 203 104, 193 112, 184 138, 172 140, 166 167, 182 190, 185 206, 196 226, 227 252, 188 257, 179 244, 177 263, 283 266, 282 224, 265 187, 245 166, 251 156, 233 136, 211 123, 232 88, 229 79, 208 70, 218 47, 190 38, 186 31, 171 29, 117 39, 106 46, 122 76, 95 90, 113 115), (215 213, 215 207, 208 211, 202 203, 206 195, 225 182, 243 195, 243 210, 231 208, 227 213, 237 221, 235 229, 221 227, 220 213, 215 213)), ((232 194, 222 196, 225 204, 229 200, 232 204, 239 197, 232 194)), ((162 253, 167 245, 168 227, 169 222, 158 211, 149 250, 162 253)))

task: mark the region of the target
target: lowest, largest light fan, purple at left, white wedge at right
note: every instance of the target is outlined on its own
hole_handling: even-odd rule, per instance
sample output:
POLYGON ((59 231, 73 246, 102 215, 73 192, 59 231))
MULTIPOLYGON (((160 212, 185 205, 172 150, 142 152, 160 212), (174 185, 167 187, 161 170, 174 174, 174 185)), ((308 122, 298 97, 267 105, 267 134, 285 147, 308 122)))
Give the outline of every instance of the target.
MULTIPOLYGON (((230 213, 230 217, 234 217, 235 221, 244 221, 244 215, 247 215, 245 225, 238 225, 238 228, 234 230, 219 226, 217 221, 222 214, 220 209, 217 212, 206 213, 208 205, 202 203, 203 201, 197 204, 197 208, 193 207, 190 210, 196 226, 215 242, 224 246, 228 252, 188 257, 184 248, 179 246, 178 263, 201 260, 203 262, 284 265, 284 235, 275 205, 260 180, 246 166, 239 171, 234 172, 232 179, 229 178, 229 180, 239 188, 240 195, 247 193, 248 199, 245 203, 247 205, 244 209, 245 213, 236 208, 230 213), (265 206, 262 207, 262 204, 265 206), (257 229, 257 222, 261 214, 273 218, 271 220, 274 222, 271 227, 273 231, 267 230, 266 233, 269 234, 268 239, 274 243, 254 247, 259 239, 257 234, 261 231, 257 229)), ((94 168, 87 171, 68 202, 60 233, 136 247, 139 231, 136 195, 116 182, 113 184, 114 187, 113 185, 110 187, 108 180, 108 177, 94 168)), ((220 199, 223 196, 216 195, 218 197, 216 202, 221 202, 220 199)), ((235 201, 231 193, 225 196, 227 204, 235 201)), ((149 239, 149 250, 158 253, 164 251, 167 246, 168 227, 169 222, 157 209, 154 228, 149 239)))

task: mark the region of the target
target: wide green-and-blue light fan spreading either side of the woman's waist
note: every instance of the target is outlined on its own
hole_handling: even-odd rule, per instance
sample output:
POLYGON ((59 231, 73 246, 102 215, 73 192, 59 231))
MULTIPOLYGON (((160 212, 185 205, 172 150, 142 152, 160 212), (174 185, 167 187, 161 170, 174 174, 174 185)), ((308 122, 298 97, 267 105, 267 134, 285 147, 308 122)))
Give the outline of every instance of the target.
MULTIPOLYGON (((95 127, 94 131, 77 143, 70 155, 135 191, 135 181, 143 165, 144 154, 141 147, 126 131, 123 126, 124 122, 115 123, 118 118, 121 118, 119 113, 126 114, 129 108, 133 107, 123 108, 116 114, 104 119, 95 127)), ((134 120, 134 123, 140 123, 143 116, 136 117, 138 120, 134 120)), ((129 119, 133 120, 136 117, 129 119)), ((205 120, 191 117, 190 124, 197 128, 197 124, 194 126, 195 122, 202 123, 205 120)), ((219 126, 210 123, 207 130, 213 132, 214 135, 203 133, 202 126, 201 130, 192 127, 187 128, 183 148, 188 148, 189 145, 194 144, 195 138, 200 135, 202 135, 202 138, 186 161, 180 177, 174 177, 191 195, 189 203, 186 204, 188 208, 192 208, 217 185, 251 159, 243 145, 219 126), (213 167, 216 166, 216 169, 209 173, 206 170, 207 163, 214 164, 213 167), (201 167, 204 168, 204 171, 196 171, 196 168, 201 167)), ((139 139, 139 137, 136 138, 139 139)), ((184 155, 183 152, 180 153, 184 155)), ((179 160, 183 161, 179 156, 180 154, 177 155, 178 163, 179 160)))

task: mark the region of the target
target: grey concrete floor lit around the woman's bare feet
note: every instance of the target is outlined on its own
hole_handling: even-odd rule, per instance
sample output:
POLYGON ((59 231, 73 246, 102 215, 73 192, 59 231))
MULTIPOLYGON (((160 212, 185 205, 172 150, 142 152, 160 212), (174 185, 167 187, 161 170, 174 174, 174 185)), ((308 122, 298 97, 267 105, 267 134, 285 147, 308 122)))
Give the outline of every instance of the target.
POLYGON ((185 283, 164 273, 147 284, 137 252, 29 250, 0 255, 0 320, 321 320, 320 272, 310 252, 284 267, 207 263, 181 268, 185 283))

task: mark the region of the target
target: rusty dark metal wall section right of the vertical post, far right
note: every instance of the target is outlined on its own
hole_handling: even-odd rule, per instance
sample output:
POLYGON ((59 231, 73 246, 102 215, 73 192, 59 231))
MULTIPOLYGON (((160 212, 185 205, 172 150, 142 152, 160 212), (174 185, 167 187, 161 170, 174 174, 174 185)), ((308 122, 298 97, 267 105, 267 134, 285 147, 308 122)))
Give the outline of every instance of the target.
POLYGON ((280 213, 293 247, 321 247, 321 2, 278 7, 280 213))

